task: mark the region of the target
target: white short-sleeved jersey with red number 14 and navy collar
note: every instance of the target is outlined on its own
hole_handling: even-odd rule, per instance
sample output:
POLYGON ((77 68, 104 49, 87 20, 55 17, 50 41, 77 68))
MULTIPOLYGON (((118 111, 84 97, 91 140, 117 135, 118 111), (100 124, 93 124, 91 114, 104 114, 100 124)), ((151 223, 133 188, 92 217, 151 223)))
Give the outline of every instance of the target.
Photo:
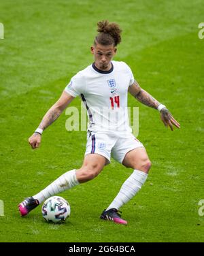
POLYGON ((101 71, 93 63, 73 76, 65 91, 82 98, 89 131, 131 131, 127 94, 133 82, 130 67, 122 61, 112 61, 109 71, 101 71))

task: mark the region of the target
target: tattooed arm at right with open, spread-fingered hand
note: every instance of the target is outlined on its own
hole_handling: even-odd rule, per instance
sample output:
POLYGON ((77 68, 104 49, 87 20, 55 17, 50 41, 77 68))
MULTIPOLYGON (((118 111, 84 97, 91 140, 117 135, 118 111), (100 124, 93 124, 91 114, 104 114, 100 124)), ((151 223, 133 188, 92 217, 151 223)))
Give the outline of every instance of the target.
MULTIPOLYGON (((138 82, 135 80, 131 86, 129 86, 129 93, 135 97, 138 101, 143 103, 144 105, 150 107, 150 108, 155 108, 156 110, 158 109, 158 106, 162 106, 150 93, 147 91, 141 89, 139 86, 138 82)), ((169 112, 169 110, 163 106, 163 108, 160 110, 160 118, 165 124, 166 127, 171 128, 171 131, 173 131, 173 125, 175 127, 180 128, 180 124, 173 118, 172 114, 169 112)))

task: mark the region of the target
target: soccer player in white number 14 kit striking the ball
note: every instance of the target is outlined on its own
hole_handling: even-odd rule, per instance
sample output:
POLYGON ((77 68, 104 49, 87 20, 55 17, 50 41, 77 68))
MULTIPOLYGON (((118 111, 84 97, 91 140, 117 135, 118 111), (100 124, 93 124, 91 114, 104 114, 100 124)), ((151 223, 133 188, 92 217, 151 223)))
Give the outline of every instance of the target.
POLYGON ((116 46, 121 41, 120 27, 107 20, 97 25, 99 33, 90 48, 94 63, 71 78, 61 97, 29 138, 31 147, 38 148, 44 129, 60 116, 75 97, 80 96, 89 117, 84 163, 80 169, 65 172, 48 187, 21 202, 18 208, 22 216, 48 197, 95 178, 110 162, 112 154, 116 161, 132 168, 133 173, 124 181, 111 204, 103 210, 101 219, 126 225, 127 221, 122 219, 119 209, 141 189, 151 167, 146 149, 129 127, 126 110, 128 92, 141 103, 158 110, 166 127, 169 126, 171 130, 173 125, 180 128, 169 110, 141 89, 126 63, 112 61, 117 51, 116 46))

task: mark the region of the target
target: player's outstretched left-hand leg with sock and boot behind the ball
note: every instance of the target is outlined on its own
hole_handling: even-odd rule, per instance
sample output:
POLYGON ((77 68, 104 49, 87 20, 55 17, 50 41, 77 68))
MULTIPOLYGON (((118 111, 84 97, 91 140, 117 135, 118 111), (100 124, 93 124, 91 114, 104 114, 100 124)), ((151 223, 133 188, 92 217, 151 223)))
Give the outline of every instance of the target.
POLYGON ((95 178, 105 165, 106 159, 102 155, 88 154, 84 158, 84 163, 79 170, 71 170, 58 177, 48 187, 28 197, 22 203, 19 204, 18 208, 22 216, 27 215, 31 210, 37 207, 39 204, 44 202, 48 197, 61 193, 67 189, 71 189, 76 185, 92 180, 95 178))

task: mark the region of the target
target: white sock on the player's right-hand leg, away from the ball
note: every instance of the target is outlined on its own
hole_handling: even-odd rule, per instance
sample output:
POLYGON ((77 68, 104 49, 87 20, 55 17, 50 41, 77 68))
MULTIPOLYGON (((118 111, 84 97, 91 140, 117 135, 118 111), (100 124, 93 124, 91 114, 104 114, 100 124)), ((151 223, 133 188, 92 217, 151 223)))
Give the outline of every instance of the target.
POLYGON ((118 195, 116 195, 114 201, 108 206, 107 210, 111 208, 116 208, 117 210, 129 202, 131 198, 141 189, 141 186, 146 179, 148 174, 141 172, 139 170, 134 170, 134 172, 125 180, 118 195))

